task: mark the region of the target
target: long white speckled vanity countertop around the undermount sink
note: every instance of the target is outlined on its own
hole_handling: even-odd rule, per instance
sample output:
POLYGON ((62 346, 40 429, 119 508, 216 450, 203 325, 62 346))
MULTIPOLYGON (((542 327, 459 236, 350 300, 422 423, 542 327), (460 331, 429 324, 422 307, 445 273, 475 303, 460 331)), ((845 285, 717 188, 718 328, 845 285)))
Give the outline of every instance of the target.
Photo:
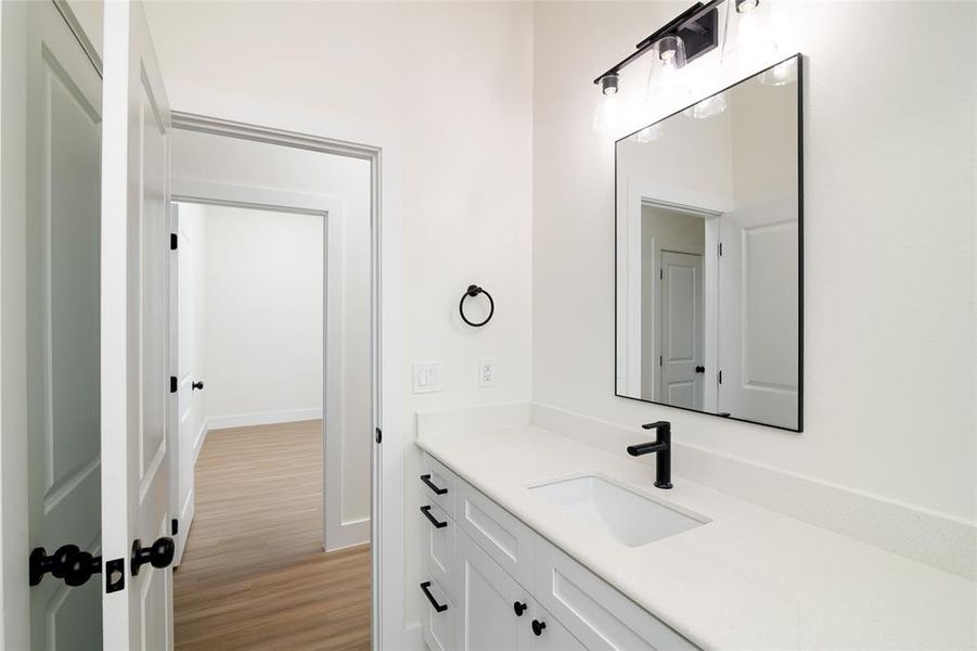
MULTIPOLYGON (((640 441, 640 436, 635 442, 640 441)), ((977 583, 525 425, 417 445, 706 649, 977 647, 977 583), (627 547, 527 489, 595 472, 711 522, 627 547)))

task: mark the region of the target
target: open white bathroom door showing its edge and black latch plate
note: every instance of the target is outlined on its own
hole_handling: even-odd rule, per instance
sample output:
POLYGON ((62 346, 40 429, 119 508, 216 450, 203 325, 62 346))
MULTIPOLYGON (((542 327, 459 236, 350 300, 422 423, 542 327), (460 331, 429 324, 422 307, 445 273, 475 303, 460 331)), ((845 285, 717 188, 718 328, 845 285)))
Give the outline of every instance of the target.
POLYGON ((105 3, 104 51, 104 646, 167 649, 173 553, 166 436, 170 117, 141 3, 105 3), (139 563, 143 558, 152 563, 139 563))

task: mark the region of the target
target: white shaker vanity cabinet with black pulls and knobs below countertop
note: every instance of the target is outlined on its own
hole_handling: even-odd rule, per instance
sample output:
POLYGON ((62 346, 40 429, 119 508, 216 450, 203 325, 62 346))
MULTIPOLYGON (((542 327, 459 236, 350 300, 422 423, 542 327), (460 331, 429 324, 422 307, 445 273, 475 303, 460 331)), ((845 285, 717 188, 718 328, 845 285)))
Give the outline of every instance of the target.
POLYGON ((422 468, 433 651, 695 649, 437 460, 422 468))

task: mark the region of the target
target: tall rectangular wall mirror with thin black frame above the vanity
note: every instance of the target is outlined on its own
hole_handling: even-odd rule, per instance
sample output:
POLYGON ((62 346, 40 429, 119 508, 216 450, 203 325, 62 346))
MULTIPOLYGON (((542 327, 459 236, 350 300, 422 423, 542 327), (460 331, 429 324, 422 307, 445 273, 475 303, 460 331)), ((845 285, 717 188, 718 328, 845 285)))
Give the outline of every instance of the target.
POLYGON ((617 141, 616 395, 801 431, 801 62, 617 141))

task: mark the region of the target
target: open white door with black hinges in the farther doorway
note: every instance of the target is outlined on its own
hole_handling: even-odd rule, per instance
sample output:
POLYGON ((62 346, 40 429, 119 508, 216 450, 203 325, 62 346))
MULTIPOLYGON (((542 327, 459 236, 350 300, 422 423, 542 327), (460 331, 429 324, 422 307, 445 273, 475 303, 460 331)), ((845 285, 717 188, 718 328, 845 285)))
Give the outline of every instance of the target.
POLYGON ((170 365, 176 369, 177 394, 170 400, 172 409, 170 469, 172 485, 170 509, 177 520, 175 539, 177 556, 173 566, 180 564, 187 547, 187 535, 193 520, 194 489, 193 467, 196 460, 197 446, 203 434, 203 405, 198 391, 204 388, 203 381, 197 382, 200 370, 195 368, 196 346, 198 345, 198 324, 195 308, 198 272, 194 268, 196 255, 194 246, 194 229, 191 220, 200 219, 195 206, 172 204, 171 207, 171 253, 170 253, 170 297, 172 309, 170 328, 170 365), (176 244, 176 248, 172 248, 176 244))

